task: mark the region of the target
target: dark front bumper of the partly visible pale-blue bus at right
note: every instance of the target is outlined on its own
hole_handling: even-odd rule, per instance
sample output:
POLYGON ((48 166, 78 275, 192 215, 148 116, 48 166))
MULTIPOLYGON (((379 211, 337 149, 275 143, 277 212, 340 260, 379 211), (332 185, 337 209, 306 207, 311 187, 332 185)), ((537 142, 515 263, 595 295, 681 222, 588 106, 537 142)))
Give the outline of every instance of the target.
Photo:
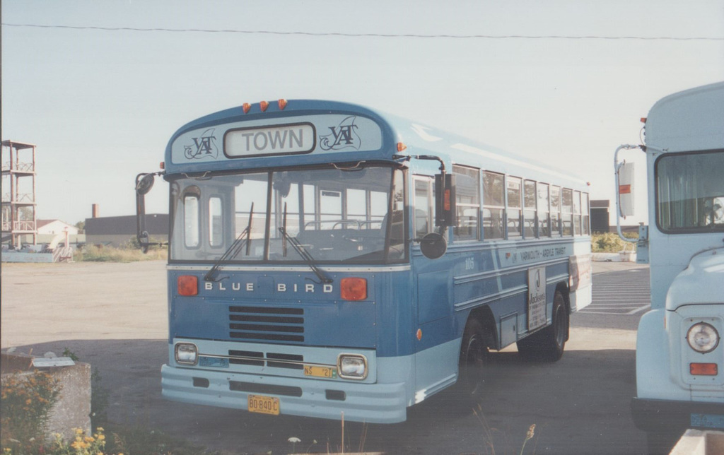
POLYGON ((631 414, 636 427, 647 432, 724 428, 724 403, 634 398, 631 414))

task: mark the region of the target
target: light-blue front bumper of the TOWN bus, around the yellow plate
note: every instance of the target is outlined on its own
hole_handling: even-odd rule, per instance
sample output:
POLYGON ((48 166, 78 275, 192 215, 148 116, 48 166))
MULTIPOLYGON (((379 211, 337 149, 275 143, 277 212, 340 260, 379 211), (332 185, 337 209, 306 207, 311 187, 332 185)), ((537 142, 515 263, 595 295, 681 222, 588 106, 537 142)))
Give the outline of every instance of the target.
POLYGON ((405 383, 331 382, 192 370, 163 365, 161 395, 172 401, 248 409, 249 395, 279 398, 279 413, 371 423, 407 418, 405 383))

